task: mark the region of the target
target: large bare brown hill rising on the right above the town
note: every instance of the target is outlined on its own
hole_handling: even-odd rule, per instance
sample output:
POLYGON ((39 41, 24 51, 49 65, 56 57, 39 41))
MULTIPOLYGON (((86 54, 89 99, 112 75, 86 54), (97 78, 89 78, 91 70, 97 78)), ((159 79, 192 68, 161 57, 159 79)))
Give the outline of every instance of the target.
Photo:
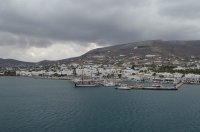
POLYGON ((200 57, 200 41, 143 41, 94 49, 83 56, 140 56, 153 54, 162 57, 200 57))

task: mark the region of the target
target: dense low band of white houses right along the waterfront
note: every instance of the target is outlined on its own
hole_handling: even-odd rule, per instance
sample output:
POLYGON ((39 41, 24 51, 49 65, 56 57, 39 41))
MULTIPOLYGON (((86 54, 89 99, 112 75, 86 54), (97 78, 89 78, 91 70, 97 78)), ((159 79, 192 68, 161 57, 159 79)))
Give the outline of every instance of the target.
POLYGON ((16 74, 19 76, 30 76, 30 77, 46 77, 46 78, 62 78, 62 79, 74 79, 81 76, 101 78, 101 79, 112 79, 120 78, 124 80, 135 80, 135 81, 163 81, 172 82, 175 80, 181 80, 188 83, 199 83, 200 75, 195 74, 181 74, 181 73, 155 73, 148 70, 147 67, 134 68, 124 65, 124 67, 116 67, 110 65, 79 65, 62 64, 53 70, 18 70, 16 74))

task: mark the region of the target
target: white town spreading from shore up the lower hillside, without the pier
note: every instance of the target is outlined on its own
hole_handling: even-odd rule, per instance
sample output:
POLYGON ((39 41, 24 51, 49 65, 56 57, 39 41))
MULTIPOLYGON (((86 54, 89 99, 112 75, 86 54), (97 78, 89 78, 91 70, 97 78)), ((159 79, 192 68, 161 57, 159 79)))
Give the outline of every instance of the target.
POLYGON ((91 56, 69 63, 35 64, 1 67, 1 76, 26 76, 66 79, 74 82, 90 80, 101 84, 116 82, 200 83, 200 59, 147 54, 144 57, 91 56))

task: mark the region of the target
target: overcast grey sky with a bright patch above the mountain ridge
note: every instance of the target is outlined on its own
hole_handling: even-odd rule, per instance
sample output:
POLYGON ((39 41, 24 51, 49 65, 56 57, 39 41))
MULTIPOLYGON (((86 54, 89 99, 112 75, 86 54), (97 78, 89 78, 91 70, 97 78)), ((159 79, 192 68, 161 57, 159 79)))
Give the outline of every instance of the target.
POLYGON ((0 58, 57 60, 143 40, 196 40, 198 0, 0 0, 0 58))

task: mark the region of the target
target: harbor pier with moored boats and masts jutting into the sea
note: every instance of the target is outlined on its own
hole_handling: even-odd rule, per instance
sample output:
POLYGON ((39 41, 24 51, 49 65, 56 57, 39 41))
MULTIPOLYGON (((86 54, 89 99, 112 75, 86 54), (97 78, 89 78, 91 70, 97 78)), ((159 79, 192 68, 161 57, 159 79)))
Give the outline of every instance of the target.
POLYGON ((105 81, 105 80, 76 80, 73 81, 74 87, 113 87, 117 90, 178 90, 184 85, 183 82, 170 82, 163 84, 162 82, 135 82, 135 81, 122 81, 118 82, 105 81))

